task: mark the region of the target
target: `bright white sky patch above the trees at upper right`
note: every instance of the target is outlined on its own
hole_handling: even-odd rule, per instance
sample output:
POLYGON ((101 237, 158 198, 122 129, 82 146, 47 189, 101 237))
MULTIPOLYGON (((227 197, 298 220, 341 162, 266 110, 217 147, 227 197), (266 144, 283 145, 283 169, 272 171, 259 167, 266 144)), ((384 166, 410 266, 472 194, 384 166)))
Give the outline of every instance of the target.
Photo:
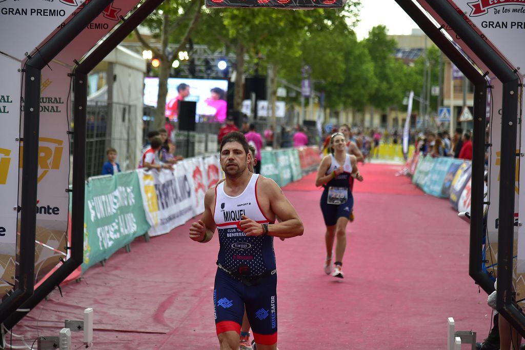
POLYGON ((368 36, 373 27, 384 24, 388 34, 411 34, 417 28, 410 18, 394 0, 362 0, 359 14, 360 22, 355 27, 355 33, 361 40, 368 36))

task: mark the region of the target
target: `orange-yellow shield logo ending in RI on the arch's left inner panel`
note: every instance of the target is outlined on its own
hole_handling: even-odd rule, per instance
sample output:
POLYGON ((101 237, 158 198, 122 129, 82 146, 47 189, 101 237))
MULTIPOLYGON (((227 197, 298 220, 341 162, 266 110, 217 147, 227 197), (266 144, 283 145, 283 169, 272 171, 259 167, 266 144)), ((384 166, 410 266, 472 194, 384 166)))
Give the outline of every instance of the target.
MULTIPOLYGON (((63 140, 41 137, 38 139, 38 183, 46 177, 51 170, 60 170, 62 153, 64 152, 63 140), (47 145, 46 145, 47 144, 47 145)), ((24 146, 20 146, 20 168, 23 167, 24 146)))

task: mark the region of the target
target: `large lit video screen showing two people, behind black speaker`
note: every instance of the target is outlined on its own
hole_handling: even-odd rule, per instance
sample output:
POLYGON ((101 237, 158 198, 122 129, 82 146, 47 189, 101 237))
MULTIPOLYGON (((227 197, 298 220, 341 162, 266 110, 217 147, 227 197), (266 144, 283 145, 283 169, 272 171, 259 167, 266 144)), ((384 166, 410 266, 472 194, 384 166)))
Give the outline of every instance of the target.
MULTIPOLYGON (((197 102, 197 122, 224 122, 226 119, 226 94, 228 80, 168 78, 166 117, 177 121, 177 104, 180 100, 197 102)), ((159 78, 144 78, 144 104, 157 106, 159 78)))

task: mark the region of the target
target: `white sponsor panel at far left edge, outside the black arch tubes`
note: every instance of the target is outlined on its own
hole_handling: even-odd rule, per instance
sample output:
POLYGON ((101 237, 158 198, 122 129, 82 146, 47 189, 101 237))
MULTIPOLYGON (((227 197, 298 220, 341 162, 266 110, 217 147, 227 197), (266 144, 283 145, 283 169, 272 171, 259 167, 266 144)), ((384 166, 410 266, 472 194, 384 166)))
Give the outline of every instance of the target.
POLYGON ((0 53, 0 299, 15 284, 17 211, 14 208, 18 205, 17 138, 22 88, 22 73, 18 69, 19 61, 0 53))

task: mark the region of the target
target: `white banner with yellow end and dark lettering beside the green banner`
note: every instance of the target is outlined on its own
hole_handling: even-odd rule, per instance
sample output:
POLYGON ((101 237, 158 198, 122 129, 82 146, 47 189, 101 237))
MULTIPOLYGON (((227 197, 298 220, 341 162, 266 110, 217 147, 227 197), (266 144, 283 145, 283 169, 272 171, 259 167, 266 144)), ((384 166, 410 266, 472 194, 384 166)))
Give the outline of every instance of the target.
POLYGON ((195 191, 186 167, 176 166, 173 171, 139 169, 137 173, 150 236, 168 233, 193 218, 195 191))

